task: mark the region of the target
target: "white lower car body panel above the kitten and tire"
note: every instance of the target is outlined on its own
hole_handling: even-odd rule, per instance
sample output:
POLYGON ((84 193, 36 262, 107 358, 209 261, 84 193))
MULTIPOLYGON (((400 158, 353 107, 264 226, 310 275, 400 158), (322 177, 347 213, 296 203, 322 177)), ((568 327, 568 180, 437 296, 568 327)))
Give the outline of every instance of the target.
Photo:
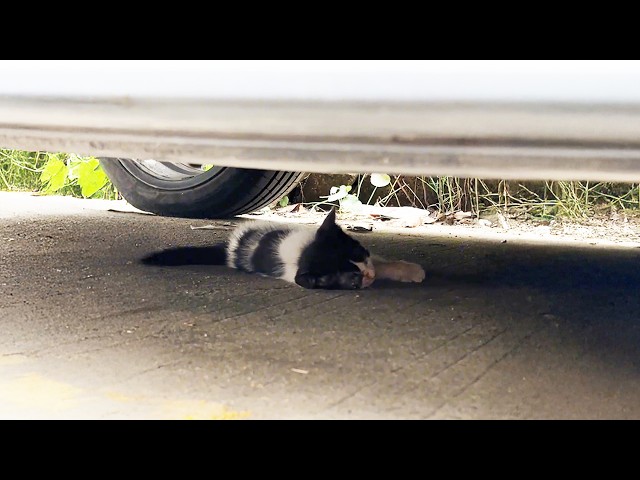
POLYGON ((2 148, 637 182, 639 140, 639 62, 0 62, 2 148))

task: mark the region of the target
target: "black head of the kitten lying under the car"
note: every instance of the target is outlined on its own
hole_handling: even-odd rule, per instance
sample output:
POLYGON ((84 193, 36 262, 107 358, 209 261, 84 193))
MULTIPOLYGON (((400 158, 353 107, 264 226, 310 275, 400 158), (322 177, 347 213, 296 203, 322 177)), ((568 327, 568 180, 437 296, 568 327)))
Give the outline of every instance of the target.
POLYGON ((369 251, 336 225, 331 210, 302 252, 296 282, 306 288, 354 289, 368 287, 374 278, 369 251))

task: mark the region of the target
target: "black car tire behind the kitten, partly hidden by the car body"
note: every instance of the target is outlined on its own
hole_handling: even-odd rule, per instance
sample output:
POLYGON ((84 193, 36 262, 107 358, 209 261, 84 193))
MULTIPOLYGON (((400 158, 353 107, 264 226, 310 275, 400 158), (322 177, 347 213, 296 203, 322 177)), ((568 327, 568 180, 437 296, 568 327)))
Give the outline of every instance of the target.
POLYGON ((101 158, 102 168, 131 205, 168 217, 227 218, 256 211, 286 195, 304 174, 101 158))

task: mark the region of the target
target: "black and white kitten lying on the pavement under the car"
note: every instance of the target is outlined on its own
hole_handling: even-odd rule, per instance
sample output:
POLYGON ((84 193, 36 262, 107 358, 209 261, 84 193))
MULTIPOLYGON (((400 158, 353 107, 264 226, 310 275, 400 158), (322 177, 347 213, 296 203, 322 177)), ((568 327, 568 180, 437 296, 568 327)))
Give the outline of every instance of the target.
POLYGON ((182 247, 142 259, 147 265, 227 265, 297 283, 304 288, 353 290, 375 279, 421 282, 420 265, 371 257, 337 224, 332 210, 318 229, 248 222, 226 244, 182 247))

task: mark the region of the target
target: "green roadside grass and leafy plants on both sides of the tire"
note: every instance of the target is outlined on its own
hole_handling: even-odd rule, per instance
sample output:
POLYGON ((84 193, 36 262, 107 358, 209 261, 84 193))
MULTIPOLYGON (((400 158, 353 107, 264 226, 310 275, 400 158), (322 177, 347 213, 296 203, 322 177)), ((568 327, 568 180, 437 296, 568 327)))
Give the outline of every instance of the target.
MULTIPOLYGON (((66 153, 0 149, 0 190, 118 198, 96 158, 66 153)), ((348 184, 317 194, 318 199, 306 201, 294 198, 294 192, 278 203, 281 207, 297 202, 336 205, 346 211, 359 205, 411 206, 442 215, 502 212, 534 220, 640 211, 640 186, 636 183, 489 181, 374 173, 354 175, 348 184)))

